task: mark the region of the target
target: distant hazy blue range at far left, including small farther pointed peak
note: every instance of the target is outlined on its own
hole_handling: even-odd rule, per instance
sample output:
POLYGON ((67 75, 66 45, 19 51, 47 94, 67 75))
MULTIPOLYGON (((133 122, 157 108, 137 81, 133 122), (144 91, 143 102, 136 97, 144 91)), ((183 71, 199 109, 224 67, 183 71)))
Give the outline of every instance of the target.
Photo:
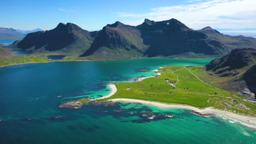
POLYGON ((23 31, 20 29, 0 27, 0 39, 21 40, 26 36, 27 33, 38 32, 38 31, 43 31, 43 30, 40 28, 37 28, 31 31, 23 31))

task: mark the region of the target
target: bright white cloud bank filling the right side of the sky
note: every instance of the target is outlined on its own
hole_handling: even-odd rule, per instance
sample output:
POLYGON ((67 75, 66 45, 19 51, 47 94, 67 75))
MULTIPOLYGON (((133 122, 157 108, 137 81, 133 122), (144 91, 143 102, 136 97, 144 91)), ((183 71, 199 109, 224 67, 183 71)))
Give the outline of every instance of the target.
POLYGON ((154 21, 174 18, 194 29, 206 26, 231 29, 256 27, 255 0, 195 0, 188 2, 190 3, 187 5, 153 8, 149 13, 118 13, 118 16, 136 19, 127 22, 129 25, 139 25, 144 18, 154 21))

